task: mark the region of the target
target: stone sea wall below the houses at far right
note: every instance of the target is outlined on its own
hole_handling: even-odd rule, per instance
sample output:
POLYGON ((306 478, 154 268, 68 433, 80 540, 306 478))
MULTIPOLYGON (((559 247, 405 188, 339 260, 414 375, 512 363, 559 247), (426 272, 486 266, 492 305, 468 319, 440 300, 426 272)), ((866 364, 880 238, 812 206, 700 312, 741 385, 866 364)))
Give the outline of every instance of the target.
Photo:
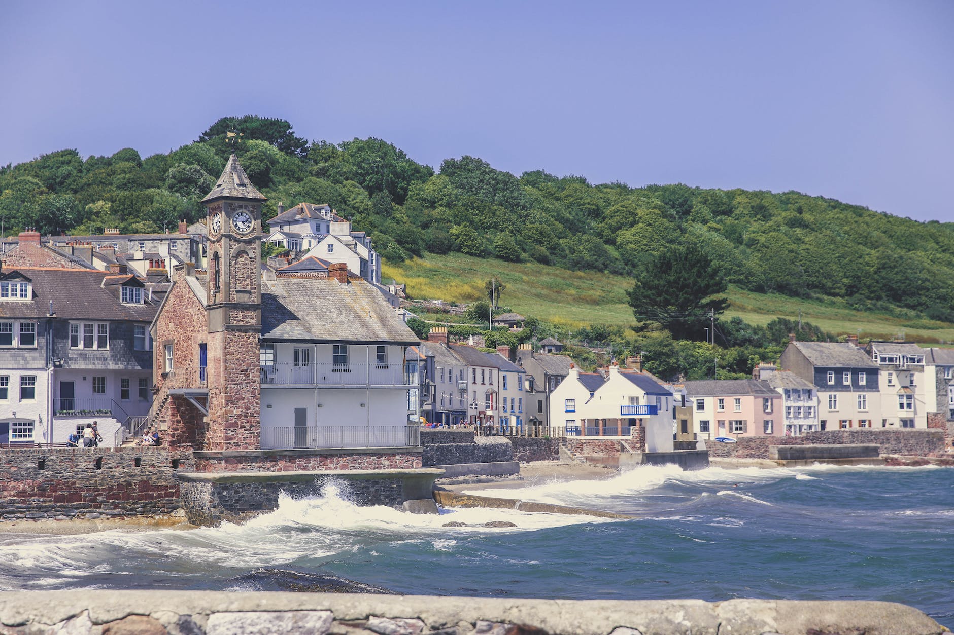
POLYGON ((742 437, 736 443, 707 441, 709 456, 719 459, 769 459, 770 445, 878 443, 881 454, 916 457, 944 451, 944 430, 825 430, 803 437, 742 437))

